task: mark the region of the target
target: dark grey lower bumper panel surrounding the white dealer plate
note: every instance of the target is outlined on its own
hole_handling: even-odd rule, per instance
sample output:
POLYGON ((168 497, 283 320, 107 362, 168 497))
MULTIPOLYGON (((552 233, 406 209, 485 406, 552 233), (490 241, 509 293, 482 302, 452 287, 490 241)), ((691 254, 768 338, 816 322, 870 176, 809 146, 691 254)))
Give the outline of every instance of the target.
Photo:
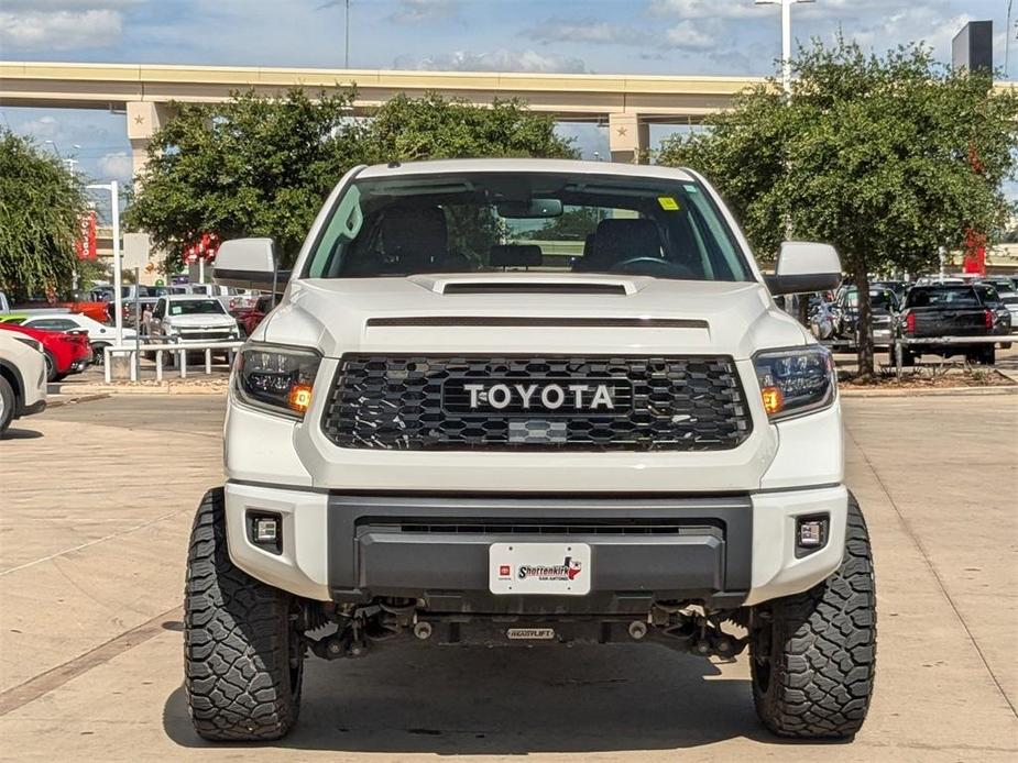
POLYGON ((331 495, 329 585, 342 602, 425 599, 462 612, 646 611, 661 599, 737 606, 751 585, 748 496, 519 498, 331 495), (584 597, 495 596, 488 546, 591 545, 584 597))

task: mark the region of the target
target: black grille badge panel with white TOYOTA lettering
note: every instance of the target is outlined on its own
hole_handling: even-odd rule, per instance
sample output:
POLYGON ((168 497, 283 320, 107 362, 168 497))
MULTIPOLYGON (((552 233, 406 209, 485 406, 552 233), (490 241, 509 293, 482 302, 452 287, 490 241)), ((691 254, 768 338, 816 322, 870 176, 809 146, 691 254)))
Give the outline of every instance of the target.
POLYGON ((626 413, 632 385, 624 379, 448 379, 442 389, 447 411, 457 413, 626 413))

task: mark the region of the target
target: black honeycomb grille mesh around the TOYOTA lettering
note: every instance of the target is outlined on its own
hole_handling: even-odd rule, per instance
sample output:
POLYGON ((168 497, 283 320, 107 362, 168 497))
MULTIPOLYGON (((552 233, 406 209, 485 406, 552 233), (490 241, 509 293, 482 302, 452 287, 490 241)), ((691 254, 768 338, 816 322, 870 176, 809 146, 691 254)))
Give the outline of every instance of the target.
POLYGON ((751 429, 735 364, 720 356, 344 355, 322 419, 340 447, 411 451, 719 451, 751 429), (624 406, 605 414, 518 406, 479 413, 461 405, 464 380, 516 379, 614 380, 624 406), (444 407, 447 383, 456 394, 444 407))

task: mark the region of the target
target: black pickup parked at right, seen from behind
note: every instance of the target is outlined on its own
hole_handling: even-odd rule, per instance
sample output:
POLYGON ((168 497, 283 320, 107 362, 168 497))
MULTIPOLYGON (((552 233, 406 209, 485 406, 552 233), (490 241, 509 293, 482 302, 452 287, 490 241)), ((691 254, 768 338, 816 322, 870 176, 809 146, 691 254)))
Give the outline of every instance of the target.
MULTIPOLYGON (((986 289, 981 290, 966 284, 912 287, 905 299, 904 309, 895 320, 895 336, 937 339, 1009 334, 1010 314, 1001 316, 992 301, 984 301, 986 298, 986 289)), ((987 365, 996 361, 995 345, 990 343, 944 343, 907 345, 901 350, 901 363, 912 365, 916 357, 926 354, 942 357, 964 355, 968 362, 987 365)), ((895 362, 894 347, 890 351, 890 361, 895 362)))

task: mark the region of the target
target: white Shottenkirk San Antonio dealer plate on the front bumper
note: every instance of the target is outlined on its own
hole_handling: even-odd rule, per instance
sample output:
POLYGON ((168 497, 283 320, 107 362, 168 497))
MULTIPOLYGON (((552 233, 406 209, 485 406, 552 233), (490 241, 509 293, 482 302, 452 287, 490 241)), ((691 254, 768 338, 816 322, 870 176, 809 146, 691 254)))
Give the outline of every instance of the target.
POLYGON ((492 594, 584 596, 590 576, 587 543, 492 543, 488 550, 492 594))

